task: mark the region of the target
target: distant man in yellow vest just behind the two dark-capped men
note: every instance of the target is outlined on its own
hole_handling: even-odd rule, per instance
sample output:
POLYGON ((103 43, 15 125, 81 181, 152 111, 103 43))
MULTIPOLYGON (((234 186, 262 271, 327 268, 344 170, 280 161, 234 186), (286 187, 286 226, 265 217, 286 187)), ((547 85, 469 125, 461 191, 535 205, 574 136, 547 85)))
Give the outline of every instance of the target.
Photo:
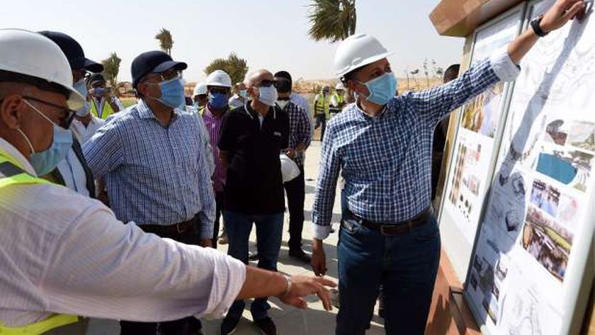
POLYGON ((89 97, 91 97, 91 113, 101 120, 106 120, 113 113, 124 109, 124 105, 112 89, 106 86, 106 79, 101 73, 91 74, 89 77, 89 97))

